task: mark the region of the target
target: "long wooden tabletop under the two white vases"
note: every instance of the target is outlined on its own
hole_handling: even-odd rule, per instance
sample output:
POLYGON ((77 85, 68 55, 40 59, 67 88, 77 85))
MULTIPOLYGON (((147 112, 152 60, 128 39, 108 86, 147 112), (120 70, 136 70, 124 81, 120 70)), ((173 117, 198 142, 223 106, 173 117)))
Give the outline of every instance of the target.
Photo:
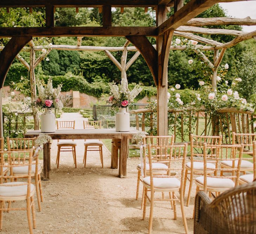
MULTIPOLYGON (((54 139, 121 139, 122 134, 127 135, 128 139, 136 133, 136 129, 131 128, 129 132, 116 132, 114 128, 101 128, 101 129, 59 129, 53 133, 44 133, 54 139)), ((41 130, 28 130, 25 137, 38 136, 41 130)))

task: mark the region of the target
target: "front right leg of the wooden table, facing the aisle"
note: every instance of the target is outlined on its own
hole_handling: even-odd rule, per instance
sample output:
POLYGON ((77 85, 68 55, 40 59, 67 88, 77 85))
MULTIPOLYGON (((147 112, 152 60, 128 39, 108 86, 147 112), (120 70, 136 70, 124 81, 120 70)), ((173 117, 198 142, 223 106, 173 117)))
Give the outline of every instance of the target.
POLYGON ((119 152, 119 177, 126 178, 127 155, 129 153, 129 139, 127 134, 122 134, 121 147, 119 152))

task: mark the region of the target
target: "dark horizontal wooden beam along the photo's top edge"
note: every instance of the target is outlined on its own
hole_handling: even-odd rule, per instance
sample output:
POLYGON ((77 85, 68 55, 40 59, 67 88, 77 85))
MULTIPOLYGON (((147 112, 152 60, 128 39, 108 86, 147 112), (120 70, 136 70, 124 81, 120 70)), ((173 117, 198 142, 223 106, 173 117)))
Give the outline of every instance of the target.
POLYGON ((158 0, 1 0, 0 7, 45 7, 52 5, 55 7, 98 7, 109 5, 110 2, 113 7, 152 7, 158 5, 158 0))

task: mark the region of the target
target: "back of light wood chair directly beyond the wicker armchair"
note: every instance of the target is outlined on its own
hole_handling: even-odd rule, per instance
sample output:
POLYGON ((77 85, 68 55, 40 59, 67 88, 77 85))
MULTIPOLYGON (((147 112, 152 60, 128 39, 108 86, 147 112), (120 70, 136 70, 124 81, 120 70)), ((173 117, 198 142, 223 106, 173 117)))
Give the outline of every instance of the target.
POLYGON ((204 192, 207 193, 207 177, 208 178, 221 178, 221 179, 231 179, 235 186, 238 185, 238 179, 241 169, 241 161, 243 156, 244 145, 208 145, 203 144, 203 158, 204 158, 204 192), (228 150, 227 150, 228 149, 228 150), (232 161, 232 167, 221 168, 219 163, 221 162, 221 157, 223 150, 228 153, 228 160, 232 161), (216 153, 213 153, 213 152, 216 153), (239 152, 239 157, 237 159, 237 153, 239 152), (237 161, 237 164, 236 164, 237 161), (207 168, 207 163, 215 164, 215 169, 207 168), (214 175, 209 175, 209 172, 213 172, 214 175), (228 173, 225 176, 221 176, 222 173, 228 173))

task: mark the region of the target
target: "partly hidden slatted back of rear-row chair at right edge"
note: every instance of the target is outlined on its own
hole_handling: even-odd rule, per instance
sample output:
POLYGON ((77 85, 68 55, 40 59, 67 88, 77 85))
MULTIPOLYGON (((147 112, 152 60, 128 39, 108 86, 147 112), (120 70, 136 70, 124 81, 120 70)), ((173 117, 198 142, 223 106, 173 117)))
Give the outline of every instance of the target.
POLYGON ((252 155, 252 142, 256 139, 256 133, 232 133, 232 144, 244 145, 244 153, 252 155))

